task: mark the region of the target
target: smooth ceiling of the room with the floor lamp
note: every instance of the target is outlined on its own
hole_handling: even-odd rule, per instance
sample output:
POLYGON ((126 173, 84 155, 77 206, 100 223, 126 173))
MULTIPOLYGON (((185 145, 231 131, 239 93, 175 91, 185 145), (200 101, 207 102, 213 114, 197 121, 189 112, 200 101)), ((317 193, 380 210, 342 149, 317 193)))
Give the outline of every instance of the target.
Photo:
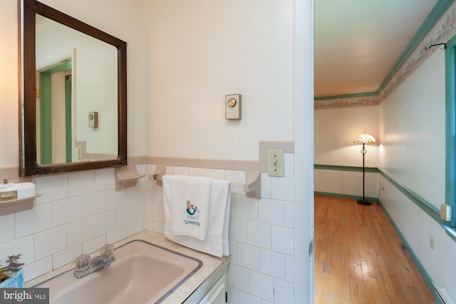
POLYGON ((438 0, 315 0, 315 97, 371 93, 438 0))

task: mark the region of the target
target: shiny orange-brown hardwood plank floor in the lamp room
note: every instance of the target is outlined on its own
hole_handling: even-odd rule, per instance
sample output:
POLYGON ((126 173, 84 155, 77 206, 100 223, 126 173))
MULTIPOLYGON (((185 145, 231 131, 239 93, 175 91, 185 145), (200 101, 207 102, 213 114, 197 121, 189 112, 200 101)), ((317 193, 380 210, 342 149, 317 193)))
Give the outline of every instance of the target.
POLYGON ((314 303, 435 303, 379 205, 315 196, 314 217, 314 303))

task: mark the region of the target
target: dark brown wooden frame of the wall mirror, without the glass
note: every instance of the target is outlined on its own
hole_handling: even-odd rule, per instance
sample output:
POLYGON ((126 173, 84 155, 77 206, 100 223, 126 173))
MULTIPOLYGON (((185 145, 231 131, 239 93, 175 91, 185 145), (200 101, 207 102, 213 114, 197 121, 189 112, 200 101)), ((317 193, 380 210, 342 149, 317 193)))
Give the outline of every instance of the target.
POLYGON ((36 0, 19 1, 19 176, 72 172, 128 164, 127 43, 36 0), (36 14, 109 43, 118 50, 118 157, 84 162, 38 164, 36 159, 36 14))

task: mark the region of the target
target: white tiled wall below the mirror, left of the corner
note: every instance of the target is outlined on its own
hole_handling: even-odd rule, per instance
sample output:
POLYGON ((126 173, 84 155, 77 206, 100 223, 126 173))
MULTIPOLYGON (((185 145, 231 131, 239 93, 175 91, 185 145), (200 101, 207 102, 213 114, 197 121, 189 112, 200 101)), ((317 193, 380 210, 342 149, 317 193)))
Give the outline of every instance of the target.
POLYGON ((36 177, 35 183, 41 196, 33 209, 0 216, 0 259, 22 253, 26 281, 144 229, 144 179, 116 191, 111 168, 36 177))

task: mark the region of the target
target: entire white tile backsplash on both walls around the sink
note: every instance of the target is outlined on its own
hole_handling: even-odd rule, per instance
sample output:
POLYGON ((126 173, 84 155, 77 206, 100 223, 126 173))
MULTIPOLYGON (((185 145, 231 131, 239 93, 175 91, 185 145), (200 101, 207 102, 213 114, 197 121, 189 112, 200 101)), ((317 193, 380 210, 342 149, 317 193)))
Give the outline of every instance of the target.
MULTIPOLYGON (((294 154, 286 153, 284 161, 283 178, 261 173, 261 199, 247 197, 239 186, 246 181, 244 171, 166 167, 166 174, 225 179, 234 185, 229 303, 293 302, 294 154)), ((33 209, 0 217, 0 253, 23 253, 29 281, 143 229, 163 233, 162 187, 148 179, 155 165, 137 168, 145 177, 120 191, 115 190, 115 169, 36 177, 42 195, 33 209)))

